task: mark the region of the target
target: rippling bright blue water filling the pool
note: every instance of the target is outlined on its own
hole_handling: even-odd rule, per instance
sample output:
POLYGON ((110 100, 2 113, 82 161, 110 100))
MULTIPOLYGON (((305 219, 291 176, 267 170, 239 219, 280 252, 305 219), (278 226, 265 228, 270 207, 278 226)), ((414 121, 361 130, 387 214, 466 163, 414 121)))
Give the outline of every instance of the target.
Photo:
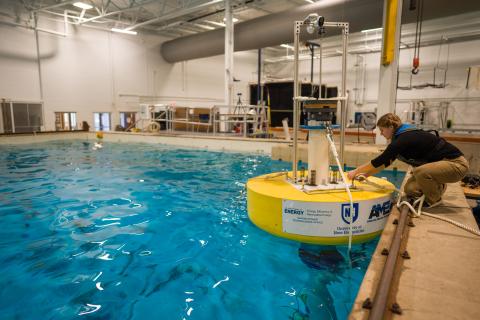
MULTIPOLYGON (((0 318, 345 319, 376 241, 256 228, 269 157, 168 146, 0 146, 0 318)), ((403 175, 396 176, 397 185, 403 175)))

